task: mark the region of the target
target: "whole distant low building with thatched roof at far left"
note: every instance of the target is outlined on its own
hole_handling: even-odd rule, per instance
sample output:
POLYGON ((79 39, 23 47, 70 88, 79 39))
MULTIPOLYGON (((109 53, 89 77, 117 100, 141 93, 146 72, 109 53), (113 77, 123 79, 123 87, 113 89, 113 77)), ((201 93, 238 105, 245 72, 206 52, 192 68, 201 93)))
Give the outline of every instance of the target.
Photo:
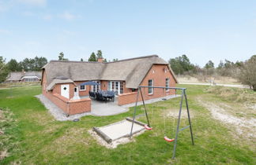
POLYGON ((42 72, 10 72, 6 83, 13 82, 39 82, 42 78, 42 72))

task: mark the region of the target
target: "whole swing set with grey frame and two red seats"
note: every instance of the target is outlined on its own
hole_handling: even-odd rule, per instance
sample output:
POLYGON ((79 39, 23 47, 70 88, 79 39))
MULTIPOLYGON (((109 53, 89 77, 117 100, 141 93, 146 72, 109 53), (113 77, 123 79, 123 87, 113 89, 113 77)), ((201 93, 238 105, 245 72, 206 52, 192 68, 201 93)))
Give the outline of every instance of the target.
MULTIPOLYGON (((147 124, 145 124, 145 130, 153 130, 153 127, 151 127, 150 123, 149 123, 149 116, 148 116, 148 112, 147 109, 145 107, 145 101, 144 101, 144 97, 143 94, 141 92, 141 88, 145 90, 145 88, 152 88, 152 89, 163 89, 163 93, 164 90, 181 90, 182 94, 181 94, 181 100, 179 103, 179 118, 178 118, 178 123, 177 123, 177 128, 175 131, 175 138, 168 138, 167 134, 166 134, 166 121, 165 121, 165 109, 163 108, 164 111, 164 140, 168 141, 168 142, 172 142, 174 141, 174 147, 173 147, 173 155, 172 155, 172 159, 175 159, 175 152, 176 152, 176 146, 177 146, 177 141, 178 141, 178 135, 179 132, 182 130, 185 130, 186 128, 190 128, 190 136, 191 136, 191 141, 192 141, 192 145, 194 145, 194 138, 193 138, 193 132, 192 132, 192 125, 191 125, 191 121, 190 121, 190 111, 189 111, 189 106, 187 103, 187 98, 186 98, 186 88, 178 88, 178 87, 164 87, 164 86, 138 86, 138 90, 137 90, 137 98, 136 98, 136 103, 135 103, 135 107, 134 107, 134 117, 133 117, 133 122, 132 122, 132 127, 130 130, 130 139, 132 138, 132 133, 133 133, 133 128, 134 128, 134 121, 135 121, 135 116, 136 116, 136 111, 137 111, 137 101, 138 101, 138 97, 139 94, 141 93, 141 100, 143 103, 143 107, 145 109, 145 117, 147 119, 147 124), (188 122, 189 125, 183 128, 180 128, 180 119, 181 119, 181 113, 182 113, 182 109, 183 109, 183 97, 185 98, 185 102, 186 102, 186 112, 187 112, 187 118, 188 118, 188 122)), ((163 101, 166 101, 166 98, 162 99, 163 101)), ((152 113, 153 113, 153 109, 152 109, 152 113)), ((152 114, 153 116, 153 114, 152 114)), ((175 119, 173 119, 173 128, 175 130, 175 119)))

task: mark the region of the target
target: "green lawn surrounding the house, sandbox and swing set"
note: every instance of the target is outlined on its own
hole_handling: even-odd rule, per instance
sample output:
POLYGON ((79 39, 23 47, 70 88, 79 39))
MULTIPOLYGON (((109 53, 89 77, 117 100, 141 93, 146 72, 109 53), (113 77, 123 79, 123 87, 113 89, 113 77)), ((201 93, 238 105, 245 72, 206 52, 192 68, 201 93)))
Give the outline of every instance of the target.
MULTIPOLYGON (((184 130, 179 134, 176 159, 171 159, 173 143, 163 140, 162 109, 165 107, 168 112, 179 108, 179 98, 147 105, 149 116, 152 108, 155 109, 152 119, 154 130, 137 136, 135 142, 110 149, 99 145, 88 134, 88 130, 132 116, 133 108, 117 116, 85 116, 77 123, 58 122, 34 97, 41 93, 40 87, 0 90, 0 108, 12 113, 11 118, 14 119, 8 123, 9 130, 6 128, 8 132, 5 136, 7 133, 10 136, 9 143, 0 145, 0 152, 8 152, 8 157, 1 159, 0 164, 256 164, 253 149, 256 146, 250 143, 250 139, 240 141, 234 138, 232 127, 213 119, 209 110, 201 106, 197 99, 219 99, 217 101, 230 105, 232 100, 207 92, 205 86, 182 86, 187 88, 190 111, 194 116, 192 124, 195 145, 191 145, 189 130, 184 130)), ((243 103, 236 104, 243 106, 243 103)), ((139 109, 138 113, 143 113, 141 106, 139 109)), ((173 136, 171 116, 167 121, 167 133, 173 136)))

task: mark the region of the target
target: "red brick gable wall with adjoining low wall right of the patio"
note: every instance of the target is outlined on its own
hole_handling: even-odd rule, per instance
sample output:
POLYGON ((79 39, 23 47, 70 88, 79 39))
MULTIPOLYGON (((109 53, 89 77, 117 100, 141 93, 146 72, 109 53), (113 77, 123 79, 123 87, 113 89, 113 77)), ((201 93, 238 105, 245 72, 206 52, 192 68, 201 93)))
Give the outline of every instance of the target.
MULTIPOLYGON (((168 69, 167 65, 164 64, 155 64, 152 65, 152 68, 149 70, 148 74, 142 80, 140 86, 149 86, 149 79, 153 80, 153 86, 165 86, 165 79, 169 78, 169 86, 175 87, 175 79, 171 72, 164 72, 164 69, 168 69)), ((175 90, 166 91, 163 89, 154 89, 153 94, 149 94, 148 88, 141 88, 143 98, 149 100, 156 97, 164 97, 170 94, 175 94, 175 90)), ((127 105, 136 101, 137 92, 120 94, 119 95, 119 105, 127 105)), ((141 101, 141 94, 138 101, 141 101)))

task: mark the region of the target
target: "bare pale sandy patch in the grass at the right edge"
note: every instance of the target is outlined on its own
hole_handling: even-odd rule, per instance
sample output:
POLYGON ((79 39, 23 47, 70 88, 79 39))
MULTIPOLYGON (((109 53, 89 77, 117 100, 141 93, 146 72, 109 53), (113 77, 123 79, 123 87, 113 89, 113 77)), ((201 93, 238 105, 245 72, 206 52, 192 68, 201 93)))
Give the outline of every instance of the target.
POLYGON ((224 103, 213 103, 198 97, 198 102, 211 112, 214 119, 235 127, 235 131, 244 138, 256 138, 256 119, 246 119, 229 114, 221 105, 224 103))

